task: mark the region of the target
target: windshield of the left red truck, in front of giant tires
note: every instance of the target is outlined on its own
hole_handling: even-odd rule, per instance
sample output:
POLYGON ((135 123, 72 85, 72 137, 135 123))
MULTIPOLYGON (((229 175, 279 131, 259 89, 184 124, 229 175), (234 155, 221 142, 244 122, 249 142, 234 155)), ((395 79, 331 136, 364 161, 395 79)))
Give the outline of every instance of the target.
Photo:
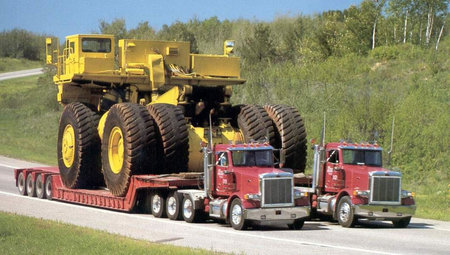
POLYGON ((234 166, 273 166, 271 150, 236 150, 231 157, 234 166))

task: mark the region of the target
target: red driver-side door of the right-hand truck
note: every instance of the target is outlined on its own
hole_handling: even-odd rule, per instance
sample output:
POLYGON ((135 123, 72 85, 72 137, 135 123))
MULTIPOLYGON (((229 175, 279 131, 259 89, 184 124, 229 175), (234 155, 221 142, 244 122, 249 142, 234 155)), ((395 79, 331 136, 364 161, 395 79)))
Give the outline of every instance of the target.
POLYGON ((339 151, 328 150, 326 153, 325 190, 327 192, 338 192, 345 187, 345 172, 339 167, 339 151))

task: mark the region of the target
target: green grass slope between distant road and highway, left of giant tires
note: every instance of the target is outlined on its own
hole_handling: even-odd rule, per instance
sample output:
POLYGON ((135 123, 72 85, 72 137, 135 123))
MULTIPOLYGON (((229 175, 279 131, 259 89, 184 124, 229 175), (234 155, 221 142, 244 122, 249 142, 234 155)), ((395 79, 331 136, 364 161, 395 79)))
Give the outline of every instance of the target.
POLYGON ((61 107, 48 75, 0 82, 0 154, 56 164, 61 107))

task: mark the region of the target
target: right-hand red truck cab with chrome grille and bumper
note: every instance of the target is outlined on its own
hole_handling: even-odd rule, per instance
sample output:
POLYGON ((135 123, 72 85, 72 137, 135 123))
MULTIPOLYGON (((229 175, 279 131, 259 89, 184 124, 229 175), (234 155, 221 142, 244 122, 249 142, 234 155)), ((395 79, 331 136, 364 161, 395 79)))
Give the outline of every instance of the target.
POLYGON ((376 144, 328 143, 315 145, 313 205, 344 227, 359 218, 389 220, 406 227, 416 206, 413 193, 401 189, 400 172, 382 167, 376 144))

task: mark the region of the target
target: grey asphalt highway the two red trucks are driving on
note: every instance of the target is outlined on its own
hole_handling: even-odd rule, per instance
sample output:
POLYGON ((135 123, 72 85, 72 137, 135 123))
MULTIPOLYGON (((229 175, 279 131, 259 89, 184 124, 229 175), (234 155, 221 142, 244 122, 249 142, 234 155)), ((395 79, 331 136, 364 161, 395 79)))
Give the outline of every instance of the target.
POLYGON ((368 222, 353 229, 325 221, 302 230, 260 226, 235 231, 215 222, 188 224, 20 196, 13 168, 36 164, 0 156, 0 211, 57 220, 137 239, 238 254, 449 254, 450 222, 413 218, 406 229, 368 222))

